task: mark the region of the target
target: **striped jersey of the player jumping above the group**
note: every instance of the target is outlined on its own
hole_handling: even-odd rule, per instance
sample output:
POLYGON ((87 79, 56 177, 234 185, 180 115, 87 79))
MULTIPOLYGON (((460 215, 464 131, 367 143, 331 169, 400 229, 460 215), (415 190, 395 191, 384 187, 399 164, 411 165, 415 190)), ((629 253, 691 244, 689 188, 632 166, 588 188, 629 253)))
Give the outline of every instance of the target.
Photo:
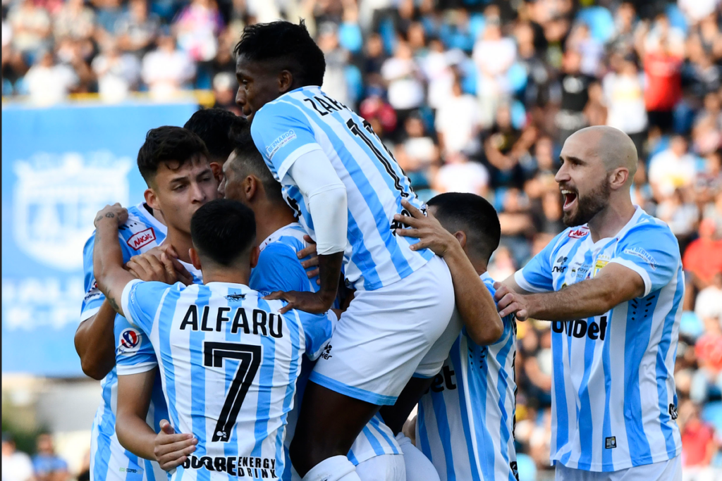
POLYGON ((412 237, 396 237, 393 221, 401 199, 417 208, 404 171, 386 150, 370 124, 318 87, 287 92, 261 107, 253 117, 251 135, 284 197, 308 234, 316 239, 308 206, 287 175, 303 154, 322 151, 344 182, 348 198, 348 234, 344 272, 357 290, 374 290, 405 278, 425 265, 433 253, 414 252, 412 237))

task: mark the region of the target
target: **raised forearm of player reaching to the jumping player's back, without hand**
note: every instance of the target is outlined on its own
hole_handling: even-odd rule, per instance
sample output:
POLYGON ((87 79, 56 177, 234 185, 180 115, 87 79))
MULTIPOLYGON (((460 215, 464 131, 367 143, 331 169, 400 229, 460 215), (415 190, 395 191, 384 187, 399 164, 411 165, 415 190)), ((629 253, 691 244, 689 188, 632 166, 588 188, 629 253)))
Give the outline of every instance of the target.
POLYGON ((456 309, 474 343, 495 343, 504 332, 497 306, 461 244, 454 244, 445 252, 444 260, 451 272, 456 309))

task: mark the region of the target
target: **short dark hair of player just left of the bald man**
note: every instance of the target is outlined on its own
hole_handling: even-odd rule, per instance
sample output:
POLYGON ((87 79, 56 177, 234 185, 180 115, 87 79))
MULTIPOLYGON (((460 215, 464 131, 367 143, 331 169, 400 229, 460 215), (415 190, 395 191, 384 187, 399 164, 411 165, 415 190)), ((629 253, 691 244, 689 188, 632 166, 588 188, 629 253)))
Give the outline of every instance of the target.
POLYGON ((436 208, 436 217, 451 232, 464 231, 467 250, 489 262, 499 247, 501 226, 495 208, 482 196, 450 192, 430 199, 429 207, 436 208))

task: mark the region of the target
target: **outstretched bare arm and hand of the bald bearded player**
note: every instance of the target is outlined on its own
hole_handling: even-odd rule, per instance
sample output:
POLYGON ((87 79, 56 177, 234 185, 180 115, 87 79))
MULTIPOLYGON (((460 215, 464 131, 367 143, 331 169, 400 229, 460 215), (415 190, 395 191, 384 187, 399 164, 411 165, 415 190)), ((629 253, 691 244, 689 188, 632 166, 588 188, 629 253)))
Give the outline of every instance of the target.
POLYGON ((645 283, 635 270, 609 263, 595 278, 575 283, 561 291, 544 294, 516 294, 500 286, 495 299, 499 314, 516 314, 518 320, 529 317, 547 321, 571 321, 600 316, 622 302, 645 294, 645 283))

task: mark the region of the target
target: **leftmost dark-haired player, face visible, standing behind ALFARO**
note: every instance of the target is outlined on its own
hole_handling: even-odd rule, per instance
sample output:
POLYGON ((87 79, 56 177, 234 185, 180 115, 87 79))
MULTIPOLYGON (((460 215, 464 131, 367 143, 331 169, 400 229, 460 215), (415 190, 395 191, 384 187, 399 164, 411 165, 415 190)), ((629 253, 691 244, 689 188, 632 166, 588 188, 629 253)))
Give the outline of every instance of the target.
MULTIPOLYGON (((171 126, 155 128, 147 133, 139 151, 138 167, 148 189, 145 191, 145 202, 129 208, 128 221, 119 229, 123 262, 129 262, 131 257, 165 241, 182 254, 181 260, 175 262, 178 265, 186 262, 183 270, 195 271, 188 257, 191 216, 204 203, 217 198, 217 182, 209 166, 206 146, 186 129, 171 126)), ((79 346, 77 350, 84 370, 93 374, 105 369, 110 372, 103 373, 107 374, 101 384, 103 403, 92 428, 91 479, 126 481, 126 478, 139 474, 143 480, 148 476, 149 479, 164 476, 158 464, 146 461, 155 460, 152 451, 145 453, 144 459, 141 459, 126 451, 116 434, 116 415, 121 415, 126 403, 145 403, 138 410, 144 410, 141 422, 151 441, 155 438, 160 420, 168 418, 168 411, 160 390, 160 378, 155 381, 155 391, 149 389, 142 400, 134 395, 116 397, 119 391, 127 392, 127 389, 119 387, 118 375, 123 377, 123 374, 139 374, 153 369, 155 365, 149 358, 154 355, 147 339, 126 319, 116 316, 112 304, 97 287, 92 265, 94 246, 95 234, 84 247, 86 294, 76 345, 79 346), (151 418, 146 418, 147 412, 152 413, 151 418), (153 472, 155 475, 151 475, 153 472)), ((186 282, 192 282, 193 278, 191 275, 186 282)), ((155 376, 150 372, 149 383, 154 384, 152 378, 155 376)), ((121 423, 121 431, 128 425, 121 423)))

